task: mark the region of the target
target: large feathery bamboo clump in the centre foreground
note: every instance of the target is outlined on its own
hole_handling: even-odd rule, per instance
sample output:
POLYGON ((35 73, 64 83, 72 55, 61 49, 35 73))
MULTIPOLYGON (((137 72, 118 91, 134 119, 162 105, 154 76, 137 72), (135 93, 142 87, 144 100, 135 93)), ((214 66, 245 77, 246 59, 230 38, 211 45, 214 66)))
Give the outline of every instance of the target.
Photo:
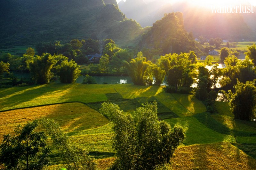
POLYGON ((174 127, 172 131, 169 124, 158 120, 156 102, 143 104, 133 116, 116 104, 102 103, 100 113, 114 123, 114 169, 153 170, 170 161, 185 137, 181 128, 174 127))

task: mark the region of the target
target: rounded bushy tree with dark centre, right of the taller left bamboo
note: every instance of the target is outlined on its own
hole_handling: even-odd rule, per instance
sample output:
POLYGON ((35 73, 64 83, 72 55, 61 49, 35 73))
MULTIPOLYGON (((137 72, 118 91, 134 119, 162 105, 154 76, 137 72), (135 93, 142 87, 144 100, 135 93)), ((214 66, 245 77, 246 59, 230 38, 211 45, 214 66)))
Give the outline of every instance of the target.
POLYGON ((61 83, 75 83, 76 79, 80 76, 81 70, 75 61, 68 60, 62 61, 62 63, 56 66, 57 75, 60 76, 61 83))

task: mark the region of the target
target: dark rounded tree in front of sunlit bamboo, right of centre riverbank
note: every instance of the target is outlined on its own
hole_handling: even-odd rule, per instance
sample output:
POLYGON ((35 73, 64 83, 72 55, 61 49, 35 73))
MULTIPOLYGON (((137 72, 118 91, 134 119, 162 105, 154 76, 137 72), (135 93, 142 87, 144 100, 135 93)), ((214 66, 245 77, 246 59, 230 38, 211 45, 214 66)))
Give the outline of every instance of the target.
POLYGON ((179 66, 174 66, 169 70, 167 82, 170 86, 175 86, 175 91, 178 91, 178 86, 181 85, 182 75, 184 72, 184 68, 179 66))

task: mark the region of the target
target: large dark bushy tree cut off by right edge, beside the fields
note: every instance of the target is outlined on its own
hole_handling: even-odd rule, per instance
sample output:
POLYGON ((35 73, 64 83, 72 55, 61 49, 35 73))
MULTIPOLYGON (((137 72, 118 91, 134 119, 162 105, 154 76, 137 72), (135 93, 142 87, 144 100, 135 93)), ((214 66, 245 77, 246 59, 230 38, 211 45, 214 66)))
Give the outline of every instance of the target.
POLYGON ((256 88, 255 80, 247 81, 245 84, 237 81, 235 85, 235 94, 231 91, 229 105, 235 119, 251 121, 256 117, 256 88))

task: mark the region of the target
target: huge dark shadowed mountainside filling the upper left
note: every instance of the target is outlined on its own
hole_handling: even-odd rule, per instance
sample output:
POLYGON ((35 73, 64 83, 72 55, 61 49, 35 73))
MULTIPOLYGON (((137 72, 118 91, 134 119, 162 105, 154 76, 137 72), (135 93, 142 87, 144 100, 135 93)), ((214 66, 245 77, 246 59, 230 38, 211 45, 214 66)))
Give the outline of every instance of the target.
POLYGON ((110 38, 125 46, 143 33, 116 0, 0 1, 0 22, 0 46, 87 38, 110 38))

